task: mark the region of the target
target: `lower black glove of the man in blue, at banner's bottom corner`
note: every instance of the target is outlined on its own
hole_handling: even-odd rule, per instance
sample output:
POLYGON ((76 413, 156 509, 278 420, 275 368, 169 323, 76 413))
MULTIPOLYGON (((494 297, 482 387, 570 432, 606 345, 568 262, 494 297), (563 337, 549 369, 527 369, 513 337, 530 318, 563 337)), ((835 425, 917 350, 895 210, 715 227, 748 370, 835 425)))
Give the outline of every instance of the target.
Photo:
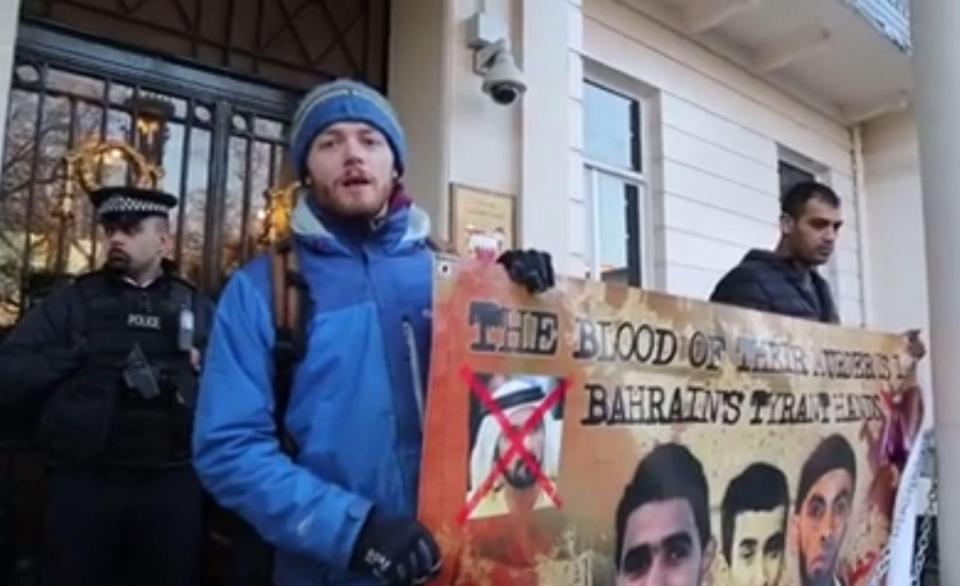
POLYGON ((425 584, 440 574, 440 548, 426 527, 370 512, 350 557, 350 569, 391 586, 425 584))

